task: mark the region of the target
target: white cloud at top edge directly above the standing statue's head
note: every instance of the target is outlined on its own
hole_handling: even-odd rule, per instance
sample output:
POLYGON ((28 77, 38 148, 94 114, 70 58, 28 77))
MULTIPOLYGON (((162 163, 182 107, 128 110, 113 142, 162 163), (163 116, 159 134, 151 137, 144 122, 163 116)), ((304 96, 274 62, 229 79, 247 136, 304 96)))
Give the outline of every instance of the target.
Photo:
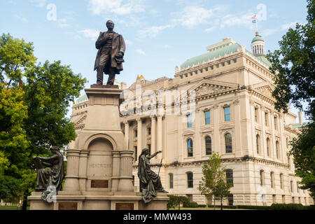
POLYGON ((95 15, 99 15, 103 11, 127 15, 144 12, 146 7, 141 0, 90 0, 88 8, 95 15))

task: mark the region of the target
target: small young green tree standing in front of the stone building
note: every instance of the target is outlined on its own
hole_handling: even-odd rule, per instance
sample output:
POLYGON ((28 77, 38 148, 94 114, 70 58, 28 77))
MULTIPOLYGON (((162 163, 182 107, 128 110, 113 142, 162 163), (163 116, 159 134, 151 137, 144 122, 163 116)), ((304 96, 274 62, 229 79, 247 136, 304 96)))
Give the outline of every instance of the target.
MULTIPOLYGON (((202 165, 202 181, 198 190, 207 197, 218 197, 221 200, 221 210, 223 209, 222 200, 230 194, 231 184, 226 183, 225 167, 222 165, 221 156, 218 153, 210 155, 209 160, 202 165)), ((216 208, 216 200, 214 200, 216 208)))

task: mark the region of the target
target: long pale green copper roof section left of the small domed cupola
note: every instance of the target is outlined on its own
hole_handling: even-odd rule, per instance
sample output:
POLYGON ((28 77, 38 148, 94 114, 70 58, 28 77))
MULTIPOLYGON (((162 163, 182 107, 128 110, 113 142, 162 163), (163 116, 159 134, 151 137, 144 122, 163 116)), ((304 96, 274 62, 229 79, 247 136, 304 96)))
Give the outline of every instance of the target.
POLYGON ((240 48, 241 48, 241 45, 239 45, 238 43, 233 43, 231 45, 225 46, 218 50, 214 50, 211 52, 207 52, 203 55, 192 57, 188 59, 186 62, 183 62, 183 64, 181 64, 181 69, 184 69, 189 66, 193 66, 202 62, 207 62, 214 58, 223 57, 224 55, 229 55, 231 53, 237 52, 238 49, 240 48))

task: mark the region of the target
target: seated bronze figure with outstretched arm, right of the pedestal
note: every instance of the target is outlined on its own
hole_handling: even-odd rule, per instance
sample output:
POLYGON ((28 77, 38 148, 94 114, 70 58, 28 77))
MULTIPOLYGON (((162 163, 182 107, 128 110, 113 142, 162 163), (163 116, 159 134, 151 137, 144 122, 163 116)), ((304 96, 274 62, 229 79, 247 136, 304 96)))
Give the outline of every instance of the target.
POLYGON ((157 192, 167 193, 162 187, 160 176, 155 174, 150 168, 152 166, 162 167, 161 163, 150 163, 150 160, 158 153, 162 153, 162 151, 149 155, 148 148, 144 148, 142 149, 141 155, 139 155, 138 177, 140 181, 140 192, 142 193, 144 203, 151 202, 153 197, 156 197, 157 192))

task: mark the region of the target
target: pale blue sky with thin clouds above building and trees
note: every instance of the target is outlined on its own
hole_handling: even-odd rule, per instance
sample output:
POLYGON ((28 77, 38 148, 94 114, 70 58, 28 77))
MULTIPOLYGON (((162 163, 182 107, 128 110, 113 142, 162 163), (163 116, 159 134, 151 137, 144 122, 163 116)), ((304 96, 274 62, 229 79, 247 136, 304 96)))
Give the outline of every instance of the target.
POLYGON ((176 65, 225 37, 250 50, 257 28, 265 49, 274 51, 288 28, 306 22, 306 6, 305 0, 1 0, 0 34, 34 43, 38 62, 60 60, 90 87, 96 83, 95 41, 112 20, 126 43, 124 70, 116 78, 129 86, 138 74, 173 78, 176 65))

